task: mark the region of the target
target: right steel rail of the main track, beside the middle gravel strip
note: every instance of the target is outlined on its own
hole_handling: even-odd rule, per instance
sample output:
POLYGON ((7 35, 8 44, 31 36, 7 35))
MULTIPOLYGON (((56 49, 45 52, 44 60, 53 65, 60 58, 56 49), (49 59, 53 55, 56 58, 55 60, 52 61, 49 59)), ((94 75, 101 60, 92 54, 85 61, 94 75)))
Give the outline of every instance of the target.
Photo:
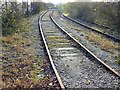
POLYGON ((53 19, 52 15, 49 15, 53 23, 66 35, 68 35, 73 41, 75 41, 80 47, 83 48, 83 50, 87 53, 89 57, 94 58, 95 60, 99 61, 100 64, 105 66, 107 69, 109 69, 112 73, 114 73, 116 76, 120 77, 120 74, 116 72, 114 69, 112 69, 110 66, 108 66, 106 63, 104 63, 101 59, 99 59, 96 55, 94 55, 90 50, 88 50, 84 45, 82 45, 77 39, 75 39, 71 34, 69 34, 65 29, 63 29, 60 25, 57 24, 57 22, 53 19))

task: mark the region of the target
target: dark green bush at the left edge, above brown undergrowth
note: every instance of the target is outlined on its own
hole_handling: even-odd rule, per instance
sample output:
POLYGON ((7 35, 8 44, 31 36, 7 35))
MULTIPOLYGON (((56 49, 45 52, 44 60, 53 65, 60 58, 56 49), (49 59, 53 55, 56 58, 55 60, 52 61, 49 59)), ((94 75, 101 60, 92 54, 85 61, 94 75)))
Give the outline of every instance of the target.
POLYGON ((7 10, 7 12, 4 12, 2 14, 2 34, 12 34, 17 31, 18 28, 18 22, 19 20, 16 18, 17 13, 16 12, 10 12, 10 10, 7 10))

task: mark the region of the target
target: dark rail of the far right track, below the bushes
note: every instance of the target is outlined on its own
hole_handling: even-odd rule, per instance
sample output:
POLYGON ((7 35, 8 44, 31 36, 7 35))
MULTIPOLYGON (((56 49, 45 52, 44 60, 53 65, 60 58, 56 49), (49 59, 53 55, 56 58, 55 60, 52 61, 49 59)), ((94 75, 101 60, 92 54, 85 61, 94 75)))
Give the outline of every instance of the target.
MULTIPOLYGON (((92 30, 92 31, 94 31, 94 32, 96 32, 96 33, 98 33, 98 34, 101 34, 101 35, 105 36, 106 38, 109 38, 109 39, 114 40, 114 41, 116 41, 116 42, 120 42, 120 39, 117 38, 117 37, 114 37, 114 36, 109 35, 109 34, 105 34, 105 33, 101 32, 101 31, 98 31, 97 29, 95 29, 95 28, 93 28, 93 27, 90 27, 90 26, 88 26, 88 25, 86 25, 86 24, 84 24, 84 23, 81 23, 81 22, 79 22, 79 21, 77 21, 77 20, 75 20, 75 19, 72 19, 72 18, 70 18, 70 17, 68 17, 68 16, 65 16, 63 13, 61 13, 61 14, 62 14, 63 17, 67 18, 68 20, 70 20, 70 21, 72 21, 72 22, 74 22, 74 23, 77 23, 77 24, 79 24, 79 25, 81 25, 81 26, 83 26, 83 27, 85 27, 85 28, 87 28, 87 29, 89 29, 89 30, 92 30)), ((102 27, 103 27, 103 26, 102 26, 102 27)), ((108 29, 108 27, 105 27, 105 28, 108 29)))

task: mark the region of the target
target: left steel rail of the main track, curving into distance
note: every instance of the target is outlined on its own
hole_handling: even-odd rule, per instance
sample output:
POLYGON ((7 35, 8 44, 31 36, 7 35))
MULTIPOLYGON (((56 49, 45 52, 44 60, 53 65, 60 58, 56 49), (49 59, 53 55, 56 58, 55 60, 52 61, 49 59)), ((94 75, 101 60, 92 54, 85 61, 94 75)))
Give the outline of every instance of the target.
POLYGON ((51 66, 52 66, 52 68, 53 68, 53 70, 54 70, 54 72, 55 72, 55 75, 56 75, 56 77, 57 77, 57 79, 58 79, 58 82, 59 82, 59 84, 60 84, 60 87, 61 87, 62 90, 65 90, 65 87, 64 87, 64 85, 63 85, 63 83, 62 83, 62 80, 61 80, 61 78, 60 78, 60 76, 59 76, 59 74, 58 74, 58 72, 57 72, 57 69, 56 69, 54 63, 53 63, 53 59, 52 59, 52 56, 51 56, 51 54, 50 54, 50 50, 49 50, 49 48, 48 48, 48 45, 47 45, 47 42, 46 42, 46 39, 45 39, 45 36, 44 36, 44 33, 43 33, 43 29, 42 29, 42 17, 43 17, 47 12, 48 12, 48 11, 44 12, 44 13, 40 16, 40 18, 38 19, 39 32, 40 32, 40 35, 42 36, 42 39, 43 39, 43 42, 44 42, 44 45, 45 45, 45 48, 46 48, 46 51, 47 51, 47 55, 48 55, 48 57, 49 57, 51 66))

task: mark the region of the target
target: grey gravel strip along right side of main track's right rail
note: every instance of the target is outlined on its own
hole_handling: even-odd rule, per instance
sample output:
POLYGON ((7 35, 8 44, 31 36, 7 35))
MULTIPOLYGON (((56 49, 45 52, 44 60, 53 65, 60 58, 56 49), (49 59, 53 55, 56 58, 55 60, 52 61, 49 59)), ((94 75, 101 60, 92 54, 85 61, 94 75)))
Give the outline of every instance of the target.
MULTIPOLYGON (((63 19, 59 17, 59 15, 54 12, 53 13, 55 21, 62 26, 67 32, 69 32, 73 37, 75 37, 80 43, 82 43, 84 46, 86 46, 91 52, 93 52, 98 58, 103 60, 105 63, 110 65, 113 69, 115 69, 117 72, 120 73, 120 65, 115 60, 116 58, 113 56, 113 53, 116 52, 117 54, 120 53, 119 50, 113 50, 111 52, 102 50, 98 45, 90 42, 87 40, 86 32, 88 31, 86 28, 83 28, 81 26, 78 26, 72 22, 69 22, 70 24, 66 23, 68 22, 66 19, 63 19), (81 31, 77 31, 74 29, 71 29, 71 24, 73 26, 77 26, 81 29, 81 31), (87 31, 86 31, 87 30, 87 31), (98 52, 99 51, 99 52, 98 52)), ((87 32, 88 33, 88 32, 87 32)))

